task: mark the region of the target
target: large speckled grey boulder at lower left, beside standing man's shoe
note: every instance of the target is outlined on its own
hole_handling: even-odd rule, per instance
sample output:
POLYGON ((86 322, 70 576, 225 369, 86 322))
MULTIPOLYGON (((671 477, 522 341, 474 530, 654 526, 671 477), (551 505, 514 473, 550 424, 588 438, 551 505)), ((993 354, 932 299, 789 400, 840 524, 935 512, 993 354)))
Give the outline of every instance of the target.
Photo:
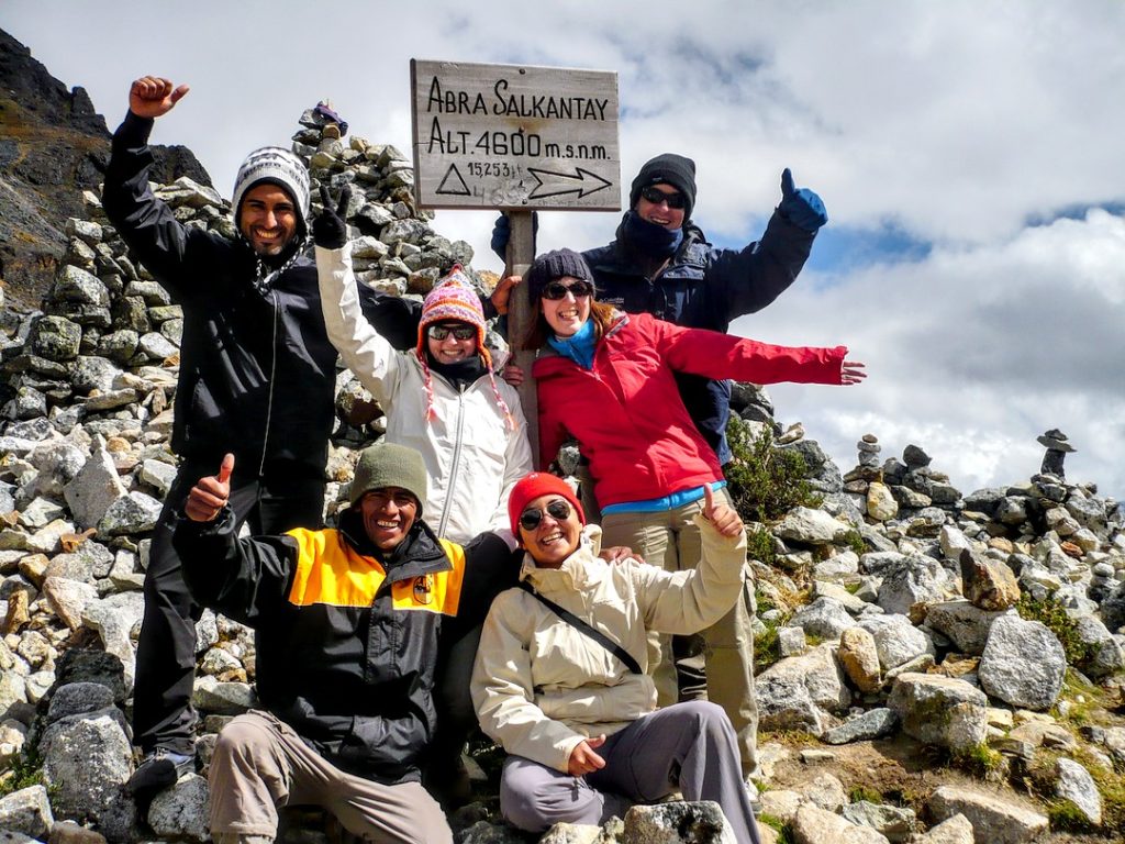
POLYGON ((43 734, 43 778, 63 817, 89 821, 110 842, 133 836, 136 809, 125 793, 133 748, 116 708, 55 721, 43 734))

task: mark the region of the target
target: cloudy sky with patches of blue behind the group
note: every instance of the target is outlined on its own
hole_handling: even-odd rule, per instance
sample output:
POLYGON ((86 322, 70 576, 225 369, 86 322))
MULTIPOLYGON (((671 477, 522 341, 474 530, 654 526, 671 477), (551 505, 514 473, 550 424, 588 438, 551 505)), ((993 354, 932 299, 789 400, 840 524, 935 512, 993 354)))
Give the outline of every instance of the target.
MULTIPOLYGON (((778 420, 845 470, 863 433, 919 445, 963 492, 1026 481, 1061 428, 1069 478, 1125 499, 1125 3, 4 0, 0 27, 110 128, 134 78, 191 84, 154 140, 227 195, 324 97, 408 152, 411 57, 616 71, 623 179, 694 158, 717 244, 759 236, 784 167, 827 205, 796 284, 735 331, 846 343, 871 377, 774 387, 778 420)), ((434 227, 498 270, 492 218, 434 227)), ((540 248, 616 219, 546 214, 540 248)))

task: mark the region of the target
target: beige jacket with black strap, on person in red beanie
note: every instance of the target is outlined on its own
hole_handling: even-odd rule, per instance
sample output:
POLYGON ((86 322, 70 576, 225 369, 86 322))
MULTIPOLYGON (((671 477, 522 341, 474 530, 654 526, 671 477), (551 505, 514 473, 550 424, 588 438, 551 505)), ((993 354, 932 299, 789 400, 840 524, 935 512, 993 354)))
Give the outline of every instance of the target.
MULTIPOLYGON (((699 567, 664 572, 637 560, 597 557, 601 528, 557 569, 524 556, 521 580, 624 647, 647 668, 649 630, 690 634, 735 605, 746 538, 729 539, 701 515, 699 567)), ((502 592, 488 611, 472 671, 480 727, 510 754, 559 771, 584 739, 611 735, 656 709, 656 686, 533 595, 502 592)))

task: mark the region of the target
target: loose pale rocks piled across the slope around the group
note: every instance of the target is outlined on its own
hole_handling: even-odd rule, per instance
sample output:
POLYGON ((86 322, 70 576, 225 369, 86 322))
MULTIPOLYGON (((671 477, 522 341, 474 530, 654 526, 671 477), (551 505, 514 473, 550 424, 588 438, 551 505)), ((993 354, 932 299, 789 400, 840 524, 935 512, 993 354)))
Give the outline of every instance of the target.
MULTIPOLYGON (((397 150, 333 137, 313 111, 300 123, 292 149, 314 188, 353 187, 346 216, 364 284, 417 296, 452 262, 468 267, 468 244, 435 234, 415 208, 413 171, 397 150)), ((235 236, 215 191, 187 179, 156 191, 184 225, 235 236)), ((204 614, 194 694, 200 771, 137 817, 123 790, 135 764, 127 708, 150 538, 176 472, 168 439, 182 318, 107 225, 98 198, 86 199, 91 219, 68 223, 66 263, 43 309, 0 311, 0 370, 11 388, 0 412, 0 835, 204 842, 206 766, 217 731, 255 703, 254 643, 246 628, 204 614)), ((752 433, 772 428, 775 448, 800 454, 824 496, 817 509, 763 526, 775 566, 752 562, 757 632, 776 631, 780 655, 756 681, 762 781, 771 783, 760 800, 772 823, 798 844, 1015 844, 1043 833, 1048 805, 1066 801, 1101 827, 1102 809, 1113 808, 1104 807, 1106 778, 1125 769, 1125 726, 1079 727, 1083 701, 1064 681, 1107 695, 1125 684, 1117 503, 1092 484, 1046 474, 963 495, 917 446, 881 463, 872 434, 842 475, 800 424, 782 431, 765 390, 736 385, 734 406, 752 433), (1030 614, 1027 601, 1059 608, 1066 647, 1056 627, 1022 614, 1030 614), (794 749, 768 740, 772 733, 809 738, 794 749), (1033 800, 930 776, 915 803, 924 823, 911 807, 849 799, 862 779, 818 775, 816 765, 843 745, 884 738, 994 754, 1012 779, 1048 754, 1048 791, 1040 783, 1033 800)), ((330 517, 346 500, 356 449, 381 432, 381 411, 346 371, 336 410, 330 517)), ((498 820, 494 790, 478 783, 477 792, 478 802, 451 816, 459 844, 529 839, 498 820)), ((1114 810, 1119 818, 1122 807, 1114 810)), ((762 833, 776 838, 772 827, 762 833)), ((326 834, 321 820, 288 835, 326 834)), ((543 841, 724 836, 713 806, 665 803, 601 829, 559 825, 543 841)))

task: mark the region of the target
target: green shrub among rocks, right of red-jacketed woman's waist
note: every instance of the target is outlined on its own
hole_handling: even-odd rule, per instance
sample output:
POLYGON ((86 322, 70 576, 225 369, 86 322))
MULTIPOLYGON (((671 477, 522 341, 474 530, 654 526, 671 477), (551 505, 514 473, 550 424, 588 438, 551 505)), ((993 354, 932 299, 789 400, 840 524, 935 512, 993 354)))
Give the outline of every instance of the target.
POLYGON ((824 502, 806 478, 804 458, 774 448, 768 427, 752 440, 746 423, 736 416, 727 425, 727 439, 734 454, 724 469, 727 492, 744 521, 776 521, 795 506, 819 508, 824 502))

